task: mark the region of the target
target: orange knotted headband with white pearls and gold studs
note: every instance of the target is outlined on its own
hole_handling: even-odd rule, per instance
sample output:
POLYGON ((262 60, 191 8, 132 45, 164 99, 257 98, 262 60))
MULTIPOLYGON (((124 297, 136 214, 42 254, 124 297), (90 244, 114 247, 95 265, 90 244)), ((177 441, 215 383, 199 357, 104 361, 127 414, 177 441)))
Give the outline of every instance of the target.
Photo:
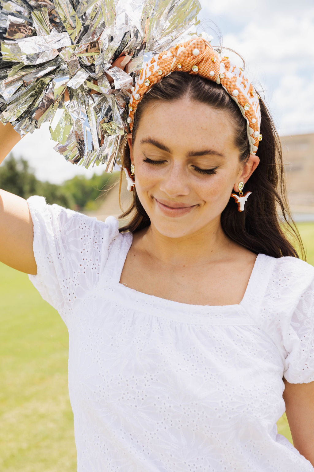
POLYGON ((240 67, 234 66, 228 58, 221 57, 210 43, 200 36, 193 36, 191 40, 177 44, 169 51, 161 52, 157 59, 155 56, 144 64, 141 74, 137 77, 129 104, 127 121, 130 131, 132 132, 134 114, 144 93, 174 71, 198 75, 223 86, 246 118, 250 153, 255 154, 258 143, 262 140, 262 135, 259 133, 261 113, 258 93, 243 75, 240 67))

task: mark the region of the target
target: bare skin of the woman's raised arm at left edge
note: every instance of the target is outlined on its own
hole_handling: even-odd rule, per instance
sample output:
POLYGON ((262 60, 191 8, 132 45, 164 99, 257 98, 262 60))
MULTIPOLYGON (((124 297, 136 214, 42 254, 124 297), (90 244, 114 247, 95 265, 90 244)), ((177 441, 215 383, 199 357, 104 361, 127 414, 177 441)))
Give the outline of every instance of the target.
MULTIPOLYGON (((0 163, 20 139, 13 126, 0 123, 0 163)), ((33 224, 26 200, 0 189, 0 262, 36 274, 32 242, 33 224)))

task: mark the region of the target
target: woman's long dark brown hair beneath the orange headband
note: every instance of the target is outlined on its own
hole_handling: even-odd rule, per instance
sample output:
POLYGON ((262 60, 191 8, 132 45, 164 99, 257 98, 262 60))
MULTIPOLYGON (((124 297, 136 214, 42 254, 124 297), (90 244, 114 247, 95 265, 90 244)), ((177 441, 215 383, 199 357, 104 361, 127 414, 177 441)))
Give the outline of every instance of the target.
MULTIPOLYGON (((260 95, 260 93, 259 93, 260 95)), ((250 157, 246 120, 238 105, 223 87, 215 82, 186 72, 173 72, 154 84, 149 93, 140 101, 134 116, 133 143, 145 107, 153 101, 175 101, 186 97, 190 100, 207 103, 216 110, 227 110, 233 121, 235 145, 239 149, 239 163, 245 164, 250 157)), ((273 257, 299 257, 296 249, 286 237, 295 238, 300 245, 302 258, 306 260, 304 246, 291 213, 286 196, 285 175, 282 163, 282 147, 274 122, 262 99, 261 129, 263 140, 259 143, 257 155, 260 159, 248 181, 252 190, 250 200, 244 211, 239 212, 233 198, 230 198, 221 213, 221 226, 227 236, 246 247, 253 253, 264 253, 273 257), (279 214, 282 213, 282 217, 279 214), (282 220, 282 221, 281 221, 282 220), (284 223, 284 230, 281 223, 284 223)), ((127 138, 121 143, 122 167, 130 168, 130 153, 127 138)), ((119 195, 124 171, 121 169, 119 195)), ((124 219, 131 215, 129 223, 120 231, 135 232, 150 225, 150 219, 133 189, 133 202, 129 209, 120 215, 124 219)), ((120 196, 119 196, 120 201, 120 196)))

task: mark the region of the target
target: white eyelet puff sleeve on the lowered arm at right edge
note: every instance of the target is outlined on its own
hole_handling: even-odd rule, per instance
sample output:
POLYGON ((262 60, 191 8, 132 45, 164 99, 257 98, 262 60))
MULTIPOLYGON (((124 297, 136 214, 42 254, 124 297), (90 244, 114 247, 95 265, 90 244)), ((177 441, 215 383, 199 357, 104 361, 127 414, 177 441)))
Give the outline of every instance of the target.
MULTIPOLYGON (((311 266, 311 269, 314 269, 311 266)), ((313 270, 314 272, 314 270, 313 270)), ((314 381, 314 275, 299 297, 284 329, 286 350, 283 376, 290 383, 314 381)))

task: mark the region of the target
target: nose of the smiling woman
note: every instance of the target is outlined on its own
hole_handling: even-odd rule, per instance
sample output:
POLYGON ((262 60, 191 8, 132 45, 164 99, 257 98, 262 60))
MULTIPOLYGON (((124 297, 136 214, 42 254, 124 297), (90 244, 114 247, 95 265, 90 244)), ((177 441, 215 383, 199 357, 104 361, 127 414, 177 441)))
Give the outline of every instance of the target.
POLYGON ((170 198, 188 195, 190 188, 187 179, 184 166, 180 163, 172 163, 162 176, 160 189, 170 198))

